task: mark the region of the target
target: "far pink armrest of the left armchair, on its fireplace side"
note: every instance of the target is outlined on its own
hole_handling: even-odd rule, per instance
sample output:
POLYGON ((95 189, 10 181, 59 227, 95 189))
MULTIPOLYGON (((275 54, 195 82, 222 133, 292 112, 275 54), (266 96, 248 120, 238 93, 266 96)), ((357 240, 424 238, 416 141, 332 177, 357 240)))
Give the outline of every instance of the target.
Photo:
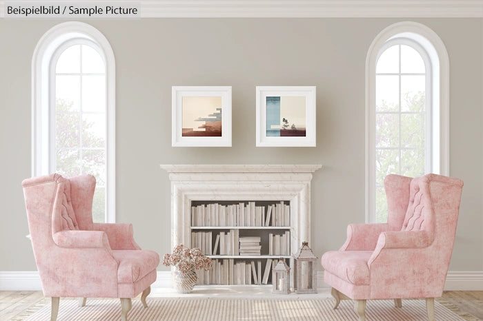
POLYGON ((106 232, 111 249, 141 249, 134 240, 132 224, 94 223, 93 229, 106 232))

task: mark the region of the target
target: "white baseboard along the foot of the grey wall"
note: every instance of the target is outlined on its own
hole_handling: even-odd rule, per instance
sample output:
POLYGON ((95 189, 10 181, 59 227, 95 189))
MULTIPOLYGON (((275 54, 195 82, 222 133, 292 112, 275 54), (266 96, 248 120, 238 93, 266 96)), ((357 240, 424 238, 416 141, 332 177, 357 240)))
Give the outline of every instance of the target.
MULTIPOLYGON (((317 272, 319 289, 328 287, 324 283, 324 272, 317 272)), ((172 287, 171 271, 157 271, 157 280, 152 288, 172 287)), ((37 271, 0 271, 0 291, 41 291, 37 271)), ((483 271, 449 271, 444 284, 445 291, 483 291, 483 271)))

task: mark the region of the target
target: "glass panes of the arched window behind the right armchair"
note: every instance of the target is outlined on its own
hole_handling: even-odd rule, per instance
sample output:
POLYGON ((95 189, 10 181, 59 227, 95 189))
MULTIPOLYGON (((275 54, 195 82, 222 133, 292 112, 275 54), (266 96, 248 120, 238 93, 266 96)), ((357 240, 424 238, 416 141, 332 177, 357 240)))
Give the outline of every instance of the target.
MULTIPOLYGON (((428 153, 426 67, 420 52, 397 39, 386 48, 375 74, 375 220, 387 221, 384 178, 422 176, 428 153)), ((429 145, 430 146, 430 145, 429 145)))

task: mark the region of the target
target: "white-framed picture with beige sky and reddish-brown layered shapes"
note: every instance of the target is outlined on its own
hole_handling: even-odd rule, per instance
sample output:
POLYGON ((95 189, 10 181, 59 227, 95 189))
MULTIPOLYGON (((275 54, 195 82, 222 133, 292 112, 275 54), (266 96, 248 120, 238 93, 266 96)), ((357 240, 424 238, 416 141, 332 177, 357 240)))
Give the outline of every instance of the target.
POLYGON ((231 147, 231 86, 172 86, 172 146, 231 147))

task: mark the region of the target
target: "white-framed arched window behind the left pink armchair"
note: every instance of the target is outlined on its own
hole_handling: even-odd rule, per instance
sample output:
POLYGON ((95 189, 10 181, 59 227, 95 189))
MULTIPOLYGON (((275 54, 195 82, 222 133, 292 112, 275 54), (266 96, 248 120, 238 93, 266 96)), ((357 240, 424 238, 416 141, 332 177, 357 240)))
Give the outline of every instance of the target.
POLYGON ((115 221, 115 61, 86 23, 56 25, 32 59, 32 174, 92 174, 95 222, 115 221))

